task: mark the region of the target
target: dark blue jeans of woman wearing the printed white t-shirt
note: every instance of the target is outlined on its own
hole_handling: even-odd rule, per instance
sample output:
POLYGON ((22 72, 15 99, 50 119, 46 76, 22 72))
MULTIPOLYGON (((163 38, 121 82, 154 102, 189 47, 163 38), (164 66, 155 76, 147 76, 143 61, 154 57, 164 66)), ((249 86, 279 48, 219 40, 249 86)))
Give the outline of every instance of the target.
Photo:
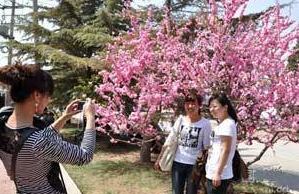
POLYGON ((198 183, 192 184, 190 180, 192 168, 193 165, 173 161, 171 173, 172 194, 184 194, 186 182, 186 194, 197 193, 198 183))

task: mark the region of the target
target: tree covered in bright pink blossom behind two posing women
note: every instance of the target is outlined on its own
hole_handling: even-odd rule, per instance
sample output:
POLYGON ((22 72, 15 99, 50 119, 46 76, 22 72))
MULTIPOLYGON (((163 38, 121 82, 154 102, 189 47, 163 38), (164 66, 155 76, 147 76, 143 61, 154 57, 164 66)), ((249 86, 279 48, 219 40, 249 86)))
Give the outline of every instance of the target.
POLYGON ((246 4, 210 0, 210 12, 183 26, 169 14, 155 23, 150 12, 141 22, 127 11, 132 29, 110 45, 111 69, 100 72, 103 83, 96 92, 107 103, 98 109, 99 130, 107 132, 108 125, 116 133, 155 137, 158 113, 196 88, 206 96, 227 93, 238 111, 242 140, 265 145, 248 165, 279 139, 298 142, 299 81, 286 64, 296 52, 299 28, 281 16, 278 5, 244 22, 246 4))

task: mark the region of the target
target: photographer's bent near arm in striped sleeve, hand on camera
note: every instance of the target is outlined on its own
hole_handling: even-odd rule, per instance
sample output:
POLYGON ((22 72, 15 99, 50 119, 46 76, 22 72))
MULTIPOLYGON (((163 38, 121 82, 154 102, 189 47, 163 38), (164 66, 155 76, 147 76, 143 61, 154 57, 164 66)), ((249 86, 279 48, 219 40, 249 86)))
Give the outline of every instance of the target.
MULTIPOLYGON (((70 107, 72 104, 73 103, 70 104, 70 107)), ((81 146, 63 141, 63 139, 52 130, 52 125, 52 127, 41 131, 36 138, 32 148, 35 155, 59 163, 76 165, 89 163, 93 157, 96 141, 95 105, 91 100, 86 102, 83 112, 87 122, 81 146)), ((64 118, 54 123, 54 126, 61 127, 63 122, 65 122, 64 118)))

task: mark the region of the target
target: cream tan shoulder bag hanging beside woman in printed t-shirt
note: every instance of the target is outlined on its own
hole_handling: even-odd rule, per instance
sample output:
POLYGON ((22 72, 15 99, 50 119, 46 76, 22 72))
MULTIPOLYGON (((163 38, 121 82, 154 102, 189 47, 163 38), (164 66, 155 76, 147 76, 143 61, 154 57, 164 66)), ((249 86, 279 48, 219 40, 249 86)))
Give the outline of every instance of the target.
POLYGON ((179 119, 180 119, 179 125, 176 126, 176 129, 175 129, 175 131, 176 131, 175 138, 172 139, 172 141, 169 145, 166 145, 166 149, 159 161, 159 166, 162 171, 170 171, 172 168, 174 156, 175 156, 176 150, 178 148, 178 140, 179 140, 179 136, 180 136, 180 126, 181 126, 183 117, 180 116, 179 119))

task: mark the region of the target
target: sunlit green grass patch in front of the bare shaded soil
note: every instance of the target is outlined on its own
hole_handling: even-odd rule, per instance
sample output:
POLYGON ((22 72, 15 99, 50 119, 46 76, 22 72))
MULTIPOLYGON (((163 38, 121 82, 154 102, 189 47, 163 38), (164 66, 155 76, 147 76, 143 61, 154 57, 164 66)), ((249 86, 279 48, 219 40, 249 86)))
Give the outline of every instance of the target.
POLYGON ((104 160, 84 167, 67 165, 66 168, 83 193, 118 194, 128 191, 146 194, 170 188, 169 176, 157 172, 152 165, 104 160))

